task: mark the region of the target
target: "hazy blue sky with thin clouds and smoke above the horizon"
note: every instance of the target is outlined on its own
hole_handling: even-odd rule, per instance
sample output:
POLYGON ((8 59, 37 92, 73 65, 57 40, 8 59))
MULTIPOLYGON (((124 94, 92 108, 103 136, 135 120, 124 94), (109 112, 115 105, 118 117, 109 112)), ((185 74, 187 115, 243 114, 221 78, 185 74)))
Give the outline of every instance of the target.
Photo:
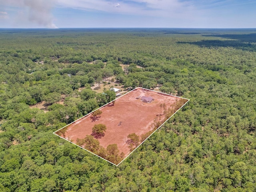
POLYGON ((0 28, 256 28, 256 0, 0 0, 0 28))

